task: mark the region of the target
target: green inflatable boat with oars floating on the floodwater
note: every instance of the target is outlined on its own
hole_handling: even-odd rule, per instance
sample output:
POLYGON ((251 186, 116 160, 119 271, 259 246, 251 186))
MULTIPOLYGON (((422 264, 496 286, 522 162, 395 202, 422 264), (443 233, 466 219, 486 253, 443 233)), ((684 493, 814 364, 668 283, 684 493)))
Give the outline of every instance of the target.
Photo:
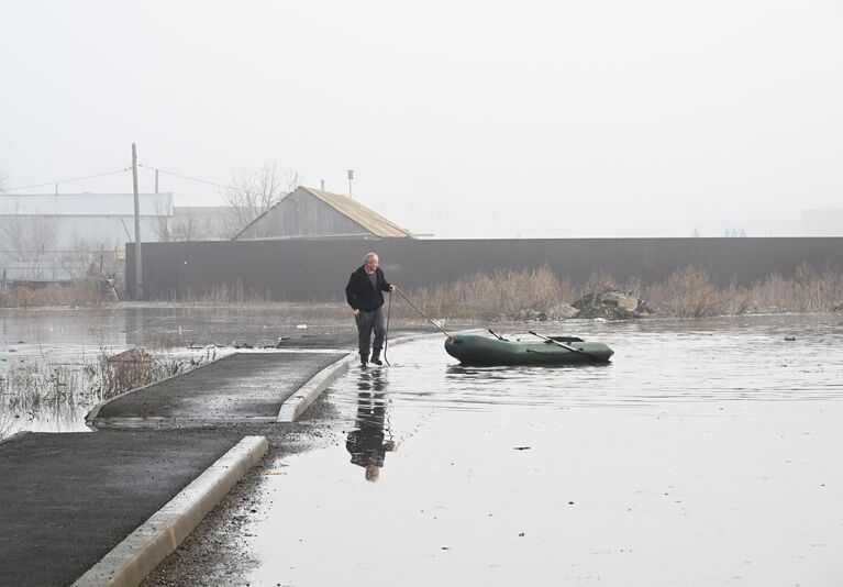
POLYGON ((542 336, 541 340, 504 339, 492 333, 455 334, 445 341, 447 354, 463 365, 569 365, 609 363, 614 354, 609 345, 574 336, 542 336))

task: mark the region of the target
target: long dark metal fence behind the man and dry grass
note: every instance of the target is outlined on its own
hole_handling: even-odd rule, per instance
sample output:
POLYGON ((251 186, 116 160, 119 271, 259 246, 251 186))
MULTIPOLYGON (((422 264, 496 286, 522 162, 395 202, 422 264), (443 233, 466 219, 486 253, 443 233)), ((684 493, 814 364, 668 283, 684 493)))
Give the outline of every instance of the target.
MULTIPOLYGON (((126 284, 133 296, 134 247, 126 246, 126 284)), ((792 277, 800 264, 818 270, 843 268, 843 237, 148 243, 143 245, 144 298, 202 296, 224 286, 273 300, 341 300, 348 275, 369 251, 380 255, 387 278, 408 289, 496 268, 542 265, 575 284, 597 270, 619 283, 636 277, 651 284, 694 266, 721 286, 750 285, 770 274, 792 277)))

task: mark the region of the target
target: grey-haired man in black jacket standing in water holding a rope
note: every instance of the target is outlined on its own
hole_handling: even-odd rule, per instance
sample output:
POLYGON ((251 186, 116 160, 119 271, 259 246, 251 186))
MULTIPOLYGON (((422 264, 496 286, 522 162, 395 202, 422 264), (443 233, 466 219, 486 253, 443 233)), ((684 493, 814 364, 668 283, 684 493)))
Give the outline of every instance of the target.
POLYGON ((354 272, 345 286, 345 299, 354 310, 357 324, 357 346, 361 352, 361 367, 369 362, 369 341, 375 332, 371 345, 371 363, 382 365, 380 350, 384 347, 384 291, 392 291, 395 286, 384 277, 380 259, 376 253, 366 253, 363 265, 354 272))

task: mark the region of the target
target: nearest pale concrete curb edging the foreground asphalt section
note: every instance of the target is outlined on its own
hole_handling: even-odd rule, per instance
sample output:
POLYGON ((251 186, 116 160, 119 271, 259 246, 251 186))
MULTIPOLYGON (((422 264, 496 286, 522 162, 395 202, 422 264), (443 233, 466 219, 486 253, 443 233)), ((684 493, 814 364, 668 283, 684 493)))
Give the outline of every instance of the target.
POLYGON ((89 568, 73 584, 74 587, 138 585, 199 525, 234 484, 264 456, 268 446, 265 436, 244 436, 89 568))

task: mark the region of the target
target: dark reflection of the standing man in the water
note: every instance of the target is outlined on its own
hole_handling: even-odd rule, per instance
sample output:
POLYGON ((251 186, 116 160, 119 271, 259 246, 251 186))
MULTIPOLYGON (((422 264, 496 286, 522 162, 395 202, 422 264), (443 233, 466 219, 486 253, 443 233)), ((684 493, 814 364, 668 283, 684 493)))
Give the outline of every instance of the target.
POLYGON ((387 451, 395 451, 397 445, 386 441, 384 425, 387 416, 387 398, 384 394, 385 381, 379 370, 361 372, 357 381, 357 420, 355 430, 348 432, 345 448, 352 455, 352 463, 366 469, 366 480, 377 481, 380 467, 384 466, 387 451))

